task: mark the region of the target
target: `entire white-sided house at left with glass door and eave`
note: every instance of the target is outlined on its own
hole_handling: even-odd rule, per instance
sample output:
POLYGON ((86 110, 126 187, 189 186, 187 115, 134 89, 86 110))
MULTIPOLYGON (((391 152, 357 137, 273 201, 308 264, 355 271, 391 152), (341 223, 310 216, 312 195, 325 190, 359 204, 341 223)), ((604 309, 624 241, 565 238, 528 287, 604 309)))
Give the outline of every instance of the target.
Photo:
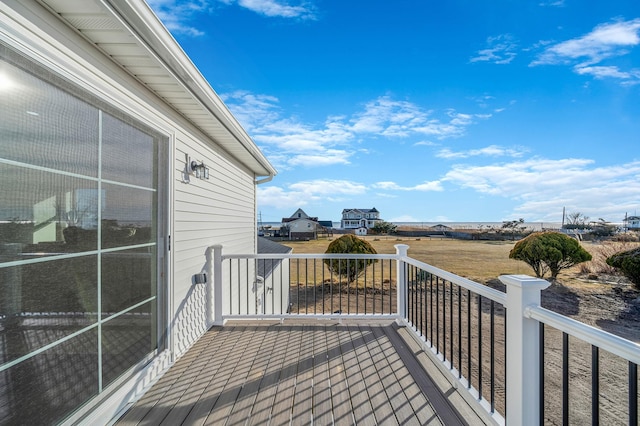
POLYGON ((0 2, 0 98, 0 424, 106 424, 211 326, 208 247, 256 253, 276 171, 143 1, 0 2))

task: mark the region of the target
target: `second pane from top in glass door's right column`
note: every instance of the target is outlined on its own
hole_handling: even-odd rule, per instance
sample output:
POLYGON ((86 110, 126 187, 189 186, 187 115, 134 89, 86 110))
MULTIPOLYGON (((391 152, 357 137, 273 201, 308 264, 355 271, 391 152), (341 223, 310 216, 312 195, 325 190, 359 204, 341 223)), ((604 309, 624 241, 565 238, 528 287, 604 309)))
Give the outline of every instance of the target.
POLYGON ((103 185, 102 248, 155 242, 155 193, 118 185, 103 185))

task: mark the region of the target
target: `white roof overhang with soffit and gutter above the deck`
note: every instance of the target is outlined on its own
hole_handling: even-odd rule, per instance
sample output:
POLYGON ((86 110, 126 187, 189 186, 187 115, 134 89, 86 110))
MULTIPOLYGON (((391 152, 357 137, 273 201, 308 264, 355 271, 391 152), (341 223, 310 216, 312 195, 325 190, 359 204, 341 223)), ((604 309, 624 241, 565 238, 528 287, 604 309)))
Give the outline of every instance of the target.
POLYGON ((257 176, 277 171, 143 1, 40 0, 257 176))

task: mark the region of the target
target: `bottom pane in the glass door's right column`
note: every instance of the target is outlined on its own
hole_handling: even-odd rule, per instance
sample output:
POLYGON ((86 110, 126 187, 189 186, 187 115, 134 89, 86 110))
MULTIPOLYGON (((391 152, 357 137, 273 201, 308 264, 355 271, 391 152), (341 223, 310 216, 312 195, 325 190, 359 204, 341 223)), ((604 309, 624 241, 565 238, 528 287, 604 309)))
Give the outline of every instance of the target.
POLYGON ((103 384, 107 386, 157 348, 155 301, 102 326, 103 384))

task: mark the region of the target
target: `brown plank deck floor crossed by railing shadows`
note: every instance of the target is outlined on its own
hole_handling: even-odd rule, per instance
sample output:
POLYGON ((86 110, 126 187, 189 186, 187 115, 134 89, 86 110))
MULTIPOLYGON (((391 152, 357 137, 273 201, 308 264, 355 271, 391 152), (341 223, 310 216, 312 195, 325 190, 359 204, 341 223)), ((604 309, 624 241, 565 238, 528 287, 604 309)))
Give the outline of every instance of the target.
POLYGON ((116 424, 467 424, 399 331, 361 321, 215 327, 116 424))

